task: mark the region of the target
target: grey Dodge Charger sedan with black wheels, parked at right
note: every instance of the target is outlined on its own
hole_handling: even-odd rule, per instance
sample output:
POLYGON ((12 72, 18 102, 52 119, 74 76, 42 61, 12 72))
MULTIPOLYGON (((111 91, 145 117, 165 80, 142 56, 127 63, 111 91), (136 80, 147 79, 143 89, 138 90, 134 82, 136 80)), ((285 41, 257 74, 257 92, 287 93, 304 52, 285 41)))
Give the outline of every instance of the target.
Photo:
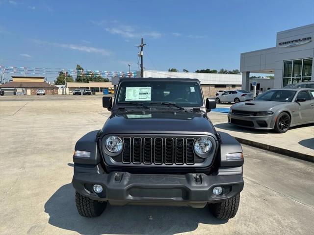
POLYGON ((314 89, 273 89, 230 108, 228 123, 285 133, 289 127, 314 123, 314 89))

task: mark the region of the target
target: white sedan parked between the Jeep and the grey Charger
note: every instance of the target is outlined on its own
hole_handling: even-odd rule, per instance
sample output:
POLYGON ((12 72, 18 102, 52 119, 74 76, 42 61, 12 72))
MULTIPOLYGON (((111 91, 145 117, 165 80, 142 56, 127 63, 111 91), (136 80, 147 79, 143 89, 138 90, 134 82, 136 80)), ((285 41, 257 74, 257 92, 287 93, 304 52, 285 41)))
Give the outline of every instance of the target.
POLYGON ((236 91, 228 91, 221 95, 216 96, 216 103, 238 103, 247 100, 253 99, 253 93, 244 91, 244 90, 236 90, 236 91))

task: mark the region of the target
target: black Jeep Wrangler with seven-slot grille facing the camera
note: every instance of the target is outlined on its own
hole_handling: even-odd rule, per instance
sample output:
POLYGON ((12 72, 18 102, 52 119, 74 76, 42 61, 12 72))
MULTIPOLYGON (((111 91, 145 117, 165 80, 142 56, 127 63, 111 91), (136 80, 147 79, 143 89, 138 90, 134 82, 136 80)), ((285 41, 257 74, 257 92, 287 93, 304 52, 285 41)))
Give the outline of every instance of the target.
POLYGON ((120 79, 101 130, 75 146, 73 186, 80 215, 111 205, 182 205, 233 218, 243 189, 241 145, 216 132, 199 80, 120 79))

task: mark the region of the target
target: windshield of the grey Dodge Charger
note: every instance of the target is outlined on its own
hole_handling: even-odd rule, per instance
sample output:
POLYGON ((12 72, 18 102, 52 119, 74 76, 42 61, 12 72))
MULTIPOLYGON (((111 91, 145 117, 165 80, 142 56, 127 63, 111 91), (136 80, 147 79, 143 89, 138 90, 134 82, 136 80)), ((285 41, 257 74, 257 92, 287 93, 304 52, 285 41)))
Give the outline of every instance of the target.
POLYGON ((260 94, 254 100, 291 102, 295 93, 296 91, 269 90, 265 93, 260 94))

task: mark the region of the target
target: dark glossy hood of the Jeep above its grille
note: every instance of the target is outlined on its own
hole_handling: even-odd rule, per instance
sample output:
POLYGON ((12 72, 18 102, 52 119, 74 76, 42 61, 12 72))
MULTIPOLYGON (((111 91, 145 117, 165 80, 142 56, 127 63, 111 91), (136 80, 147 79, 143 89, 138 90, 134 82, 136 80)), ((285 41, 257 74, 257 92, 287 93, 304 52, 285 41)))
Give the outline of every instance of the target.
POLYGON ((216 134, 215 128, 204 113, 182 111, 137 111, 113 113, 105 122, 102 132, 104 134, 216 134))

